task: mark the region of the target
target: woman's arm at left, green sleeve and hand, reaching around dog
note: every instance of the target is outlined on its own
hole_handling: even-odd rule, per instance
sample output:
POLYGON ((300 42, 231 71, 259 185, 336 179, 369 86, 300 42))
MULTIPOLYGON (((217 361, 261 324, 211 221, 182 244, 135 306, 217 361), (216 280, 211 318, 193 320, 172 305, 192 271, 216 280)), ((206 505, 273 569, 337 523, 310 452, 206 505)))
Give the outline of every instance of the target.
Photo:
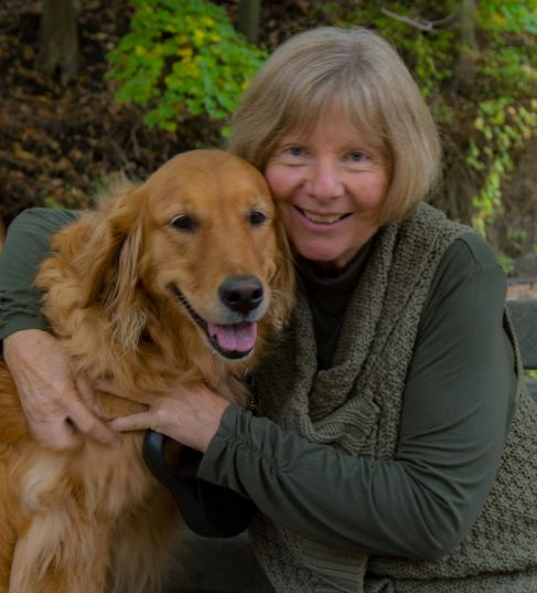
POLYGON ((0 338, 30 430, 44 445, 69 448, 79 432, 114 444, 117 435, 99 421, 95 394, 71 358, 50 335, 33 282, 51 235, 76 220, 66 210, 32 209, 9 227, 0 255, 0 338))

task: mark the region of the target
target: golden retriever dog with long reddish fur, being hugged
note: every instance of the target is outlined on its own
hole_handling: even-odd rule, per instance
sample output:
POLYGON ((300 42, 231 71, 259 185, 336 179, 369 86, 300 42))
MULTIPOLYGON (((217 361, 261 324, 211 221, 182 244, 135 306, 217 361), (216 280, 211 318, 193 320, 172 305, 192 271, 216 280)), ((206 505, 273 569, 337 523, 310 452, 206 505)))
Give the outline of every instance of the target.
MULTIPOLYGON (((241 377, 282 328, 292 282, 262 176, 224 151, 193 150, 56 233, 36 284, 90 378, 147 398, 204 381, 245 404, 241 377)), ((140 405, 99 394, 106 417, 140 405)), ((142 438, 44 448, 1 367, 1 593, 160 591, 180 517, 144 467, 142 438)))

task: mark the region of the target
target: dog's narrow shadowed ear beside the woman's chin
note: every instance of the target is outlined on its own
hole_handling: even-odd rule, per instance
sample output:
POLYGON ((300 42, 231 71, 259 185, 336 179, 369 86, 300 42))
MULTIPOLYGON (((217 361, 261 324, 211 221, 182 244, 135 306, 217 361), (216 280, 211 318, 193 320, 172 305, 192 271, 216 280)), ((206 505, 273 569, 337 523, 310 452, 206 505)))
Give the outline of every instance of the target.
POLYGON ((270 280, 272 298, 269 316, 276 329, 282 329, 294 303, 294 267, 289 241, 283 226, 278 220, 275 221, 275 232, 278 255, 276 272, 270 280))

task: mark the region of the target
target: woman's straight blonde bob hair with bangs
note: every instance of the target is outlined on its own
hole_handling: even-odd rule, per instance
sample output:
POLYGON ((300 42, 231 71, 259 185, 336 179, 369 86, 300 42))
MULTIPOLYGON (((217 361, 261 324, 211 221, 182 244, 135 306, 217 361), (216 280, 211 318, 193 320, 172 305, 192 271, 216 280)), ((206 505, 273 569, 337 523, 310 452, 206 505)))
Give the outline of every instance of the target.
POLYGON ((282 136, 308 134, 327 105, 341 108, 390 165, 380 222, 410 214, 438 177, 440 141, 412 76, 374 31, 321 27, 281 44, 247 88, 228 148, 264 171, 282 136))

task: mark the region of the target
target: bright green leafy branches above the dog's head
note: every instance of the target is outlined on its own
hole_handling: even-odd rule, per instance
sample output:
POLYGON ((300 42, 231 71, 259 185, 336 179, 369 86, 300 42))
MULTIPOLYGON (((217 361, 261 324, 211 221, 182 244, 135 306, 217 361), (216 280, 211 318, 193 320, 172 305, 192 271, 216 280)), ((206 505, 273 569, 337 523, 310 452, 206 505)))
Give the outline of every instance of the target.
POLYGON ((226 12, 205 0, 133 0, 130 32, 109 54, 119 102, 173 131, 187 117, 224 120, 267 52, 246 42, 226 12))

